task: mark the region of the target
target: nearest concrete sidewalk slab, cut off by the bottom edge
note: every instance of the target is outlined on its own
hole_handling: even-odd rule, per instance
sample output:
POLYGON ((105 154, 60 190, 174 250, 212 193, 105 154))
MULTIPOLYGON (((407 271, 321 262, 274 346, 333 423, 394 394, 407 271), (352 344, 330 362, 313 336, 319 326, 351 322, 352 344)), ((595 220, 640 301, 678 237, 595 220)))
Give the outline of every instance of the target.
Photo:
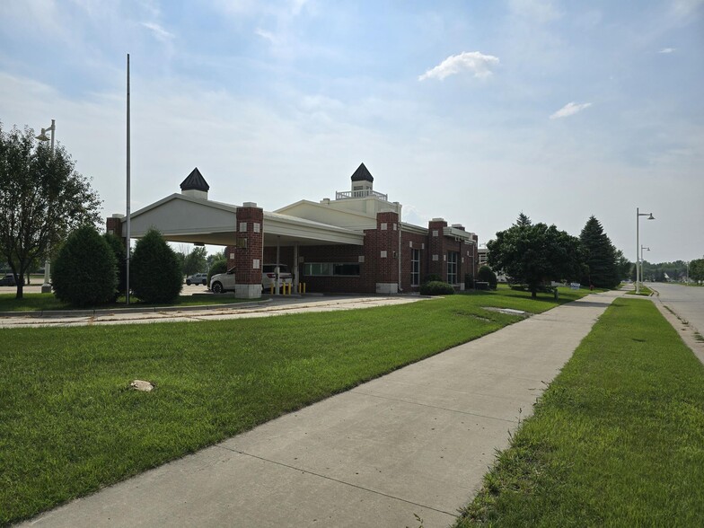
POLYGON ((27 526, 433 525, 453 515, 384 497, 295 467, 211 447, 42 515, 27 526), (295 490, 295 492, 294 492, 295 490), (303 507, 302 507, 303 506, 303 507), (365 515, 358 515, 364 512, 365 515), (376 514, 369 515, 367 514, 376 514))

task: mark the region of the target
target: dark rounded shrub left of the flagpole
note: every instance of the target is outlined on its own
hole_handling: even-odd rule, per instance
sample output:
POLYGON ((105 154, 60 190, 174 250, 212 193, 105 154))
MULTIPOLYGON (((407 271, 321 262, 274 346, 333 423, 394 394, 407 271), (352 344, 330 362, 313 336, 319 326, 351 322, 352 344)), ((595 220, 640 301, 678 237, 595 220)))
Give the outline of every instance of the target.
POLYGON ((92 225, 68 235, 51 273, 54 295, 75 306, 110 303, 118 285, 117 262, 108 242, 92 225))

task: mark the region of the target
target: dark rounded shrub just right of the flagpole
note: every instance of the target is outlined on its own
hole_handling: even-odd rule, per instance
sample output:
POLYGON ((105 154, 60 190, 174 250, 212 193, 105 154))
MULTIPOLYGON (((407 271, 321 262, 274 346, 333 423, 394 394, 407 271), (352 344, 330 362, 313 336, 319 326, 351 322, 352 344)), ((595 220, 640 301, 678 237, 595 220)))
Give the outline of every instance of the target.
POLYGON ((173 303, 179 298, 183 276, 176 252, 161 233, 150 229, 139 239, 129 260, 132 293, 148 304, 173 303))

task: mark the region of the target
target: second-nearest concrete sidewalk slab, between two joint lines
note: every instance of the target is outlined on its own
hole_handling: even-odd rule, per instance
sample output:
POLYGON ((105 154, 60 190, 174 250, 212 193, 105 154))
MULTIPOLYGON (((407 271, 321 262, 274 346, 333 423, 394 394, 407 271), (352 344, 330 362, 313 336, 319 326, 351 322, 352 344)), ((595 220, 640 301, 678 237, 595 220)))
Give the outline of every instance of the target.
POLYGON ((471 494, 472 473, 487 470, 496 437, 511 426, 352 392, 222 445, 456 515, 471 494))

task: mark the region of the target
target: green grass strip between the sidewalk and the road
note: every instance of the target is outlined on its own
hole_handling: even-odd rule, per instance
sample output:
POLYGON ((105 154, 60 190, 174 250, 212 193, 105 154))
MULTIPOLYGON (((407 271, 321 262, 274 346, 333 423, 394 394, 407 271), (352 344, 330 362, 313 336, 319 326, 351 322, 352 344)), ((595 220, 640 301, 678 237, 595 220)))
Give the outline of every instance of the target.
POLYGON ((458 527, 701 526, 704 366, 616 299, 499 453, 458 527))

